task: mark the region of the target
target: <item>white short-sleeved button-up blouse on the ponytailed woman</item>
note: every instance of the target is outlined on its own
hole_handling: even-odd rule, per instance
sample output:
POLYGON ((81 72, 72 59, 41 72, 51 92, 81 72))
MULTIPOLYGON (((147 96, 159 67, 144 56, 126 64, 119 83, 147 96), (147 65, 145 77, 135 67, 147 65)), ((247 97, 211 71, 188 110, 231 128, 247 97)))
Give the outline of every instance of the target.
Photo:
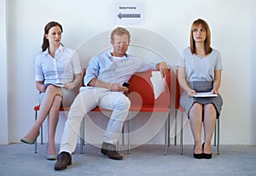
POLYGON ((81 72, 79 54, 71 48, 60 46, 55 58, 46 49, 35 60, 35 81, 44 81, 45 84, 73 82, 74 74, 81 72))

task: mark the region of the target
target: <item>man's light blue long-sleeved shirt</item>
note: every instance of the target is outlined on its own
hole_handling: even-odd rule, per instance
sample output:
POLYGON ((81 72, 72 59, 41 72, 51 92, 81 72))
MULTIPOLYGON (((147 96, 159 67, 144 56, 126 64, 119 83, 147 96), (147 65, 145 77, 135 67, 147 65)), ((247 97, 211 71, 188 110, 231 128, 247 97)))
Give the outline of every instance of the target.
POLYGON ((96 55, 89 62, 84 77, 87 86, 92 78, 108 83, 128 82, 135 72, 150 71, 155 69, 155 63, 140 60, 131 55, 113 57, 111 53, 96 55))

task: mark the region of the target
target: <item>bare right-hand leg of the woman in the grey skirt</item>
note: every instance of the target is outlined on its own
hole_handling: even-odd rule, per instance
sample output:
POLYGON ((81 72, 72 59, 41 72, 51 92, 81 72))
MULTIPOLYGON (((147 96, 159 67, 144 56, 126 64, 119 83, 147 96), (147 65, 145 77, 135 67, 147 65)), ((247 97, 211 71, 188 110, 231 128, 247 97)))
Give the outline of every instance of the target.
POLYGON ((214 105, 207 104, 204 105, 204 139, 205 139, 205 145, 204 145, 204 153, 210 154, 211 151, 211 140, 213 131, 215 128, 215 121, 216 121, 216 110, 214 105))

